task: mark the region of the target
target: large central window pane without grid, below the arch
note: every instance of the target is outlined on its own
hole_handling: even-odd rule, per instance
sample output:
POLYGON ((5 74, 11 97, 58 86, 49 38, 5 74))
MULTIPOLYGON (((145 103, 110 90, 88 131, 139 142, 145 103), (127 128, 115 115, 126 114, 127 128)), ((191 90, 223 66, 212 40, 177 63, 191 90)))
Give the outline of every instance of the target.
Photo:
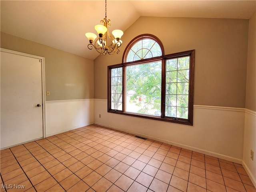
POLYGON ((160 116, 162 63, 127 66, 126 112, 160 116))

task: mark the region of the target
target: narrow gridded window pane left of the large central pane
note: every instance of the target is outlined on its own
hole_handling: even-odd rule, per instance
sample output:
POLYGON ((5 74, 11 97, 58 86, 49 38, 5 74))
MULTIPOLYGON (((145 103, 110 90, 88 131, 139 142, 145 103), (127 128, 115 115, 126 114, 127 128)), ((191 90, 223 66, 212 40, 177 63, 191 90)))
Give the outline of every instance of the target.
POLYGON ((111 69, 111 109, 122 110, 122 67, 111 69))

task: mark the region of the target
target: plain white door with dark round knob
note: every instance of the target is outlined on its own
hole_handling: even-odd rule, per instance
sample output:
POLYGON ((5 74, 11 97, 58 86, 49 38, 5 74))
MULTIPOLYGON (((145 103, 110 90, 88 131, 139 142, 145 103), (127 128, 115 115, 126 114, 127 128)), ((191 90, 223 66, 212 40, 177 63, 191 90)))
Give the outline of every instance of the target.
POLYGON ((0 61, 0 148, 42 138, 42 60, 1 51, 0 61))

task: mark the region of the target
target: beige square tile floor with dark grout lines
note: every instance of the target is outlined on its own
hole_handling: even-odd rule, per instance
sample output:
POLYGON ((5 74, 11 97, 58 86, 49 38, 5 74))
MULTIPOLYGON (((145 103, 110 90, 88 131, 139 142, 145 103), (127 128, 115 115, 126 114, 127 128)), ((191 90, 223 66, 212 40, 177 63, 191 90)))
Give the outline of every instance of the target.
POLYGON ((241 164, 97 125, 0 157, 0 192, 256 192, 241 164))

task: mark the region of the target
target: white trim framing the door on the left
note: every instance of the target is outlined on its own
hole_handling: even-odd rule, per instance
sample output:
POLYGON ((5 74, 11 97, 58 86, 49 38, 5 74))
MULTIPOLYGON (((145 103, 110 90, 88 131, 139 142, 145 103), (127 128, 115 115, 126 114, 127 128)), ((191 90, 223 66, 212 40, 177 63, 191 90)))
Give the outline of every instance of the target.
POLYGON ((42 64, 41 64, 41 71, 42 71, 42 104, 43 104, 43 137, 46 137, 46 119, 45 119, 45 107, 46 107, 46 91, 45 91, 45 73, 44 73, 44 57, 40 57, 40 56, 36 56, 36 55, 31 55, 31 54, 27 54, 27 53, 22 53, 22 52, 18 52, 18 51, 13 51, 13 50, 8 50, 8 49, 4 49, 4 48, 0 48, 1 52, 6 52, 6 53, 10 53, 10 54, 16 54, 16 55, 21 55, 21 56, 26 56, 26 57, 31 57, 31 58, 36 58, 41 60, 42 64))

